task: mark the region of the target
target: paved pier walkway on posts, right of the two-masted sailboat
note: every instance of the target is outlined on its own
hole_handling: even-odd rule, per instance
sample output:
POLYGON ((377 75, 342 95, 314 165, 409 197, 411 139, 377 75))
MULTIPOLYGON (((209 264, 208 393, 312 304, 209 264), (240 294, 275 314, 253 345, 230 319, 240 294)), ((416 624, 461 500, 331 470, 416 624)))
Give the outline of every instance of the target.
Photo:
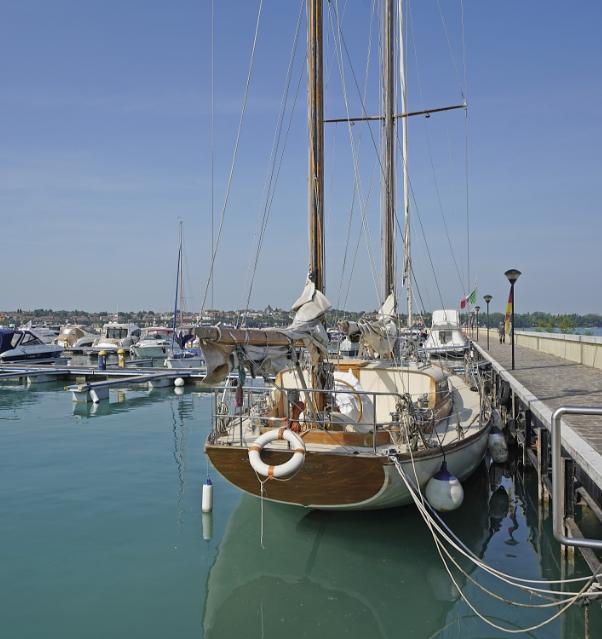
MULTIPOLYGON (((602 370, 519 345, 515 345, 515 369, 511 370, 508 338, 500 344, 492 331, 487 348, 487 332, 481 331, 473 344, 491 364, 492 397, 522 449, 523 466, 537 471, 540 504, 545 509, 550 500, 554 502, 555 535, 559 540, 561 534, 574 540, 592 571, 598 571, 600 560, 595 551, 602 549, 602 540, 584 543, 593 540, 584 539, 575 514, 577 507, 585 506, 602 525, 602 370), (567 406, 600 414, 561 415, 560 409, 567 406), (555 414, 561 443, 556 462, 552 447, 555 414)), ((570 557, 573 546, 562 548, 570 557)))

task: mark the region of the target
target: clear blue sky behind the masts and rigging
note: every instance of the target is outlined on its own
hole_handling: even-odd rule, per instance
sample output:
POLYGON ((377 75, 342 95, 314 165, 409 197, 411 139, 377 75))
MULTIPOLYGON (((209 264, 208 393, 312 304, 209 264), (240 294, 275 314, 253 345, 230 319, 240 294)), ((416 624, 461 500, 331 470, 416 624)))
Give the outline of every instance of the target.
MULTIPOLYGON (((215 4, 217 218, 258 2, 215 4)), ((338 5, 363 84, 372 2, 338 5)), ((299 6, 264 0, 216 261, 216 307, 235 308, 245 298, 299 6)), ((200 306, 210 258, 209 7, 209 0, 0 2, 0 308, 167 309, 179 219, 187 306, 200 306)), ((464 8, 470 287, 478 285, 479 296, 493 294, 492 309, 500 310, 507 295, 503 272, 516 267, 524 273, 517 310, 602 312, 602 5, 465 0, 464 8)), ((327 10, 325 19, 328 26, 327 10)), ((410 109, 457 103, 464 85, 459 2, 413 0, 409 26, 410 109)), ((378 32, 376 23, 367 83, 372 112, 378 109, 378 32)), ((294 86, 303 72, 304 33, 303 22, 294 86)), ((330 28, 327 33, 326 113, 341 116, 336 48, 330 28)), ((345 64, 349 108, 360 114, 345 64)), ((304 110, 302 84, 252 307, 289 306, 305 278, 304 110)), ((378 140, 377 127, 372 130, 378 140)), ((427 309, 455 306, 469 288, 464 131, 460 111, 410 121, 412 186, 437 273, 435 283, 415 217, 415 271, 427 309)), ((379 269, 378 168, 366 126, 353 133, 363 196, 370 191, 366 216, 379 269)), ((344 125, 328 127, 326 147, 327 295, 336 304, 345 298, 340 273, 353 191, 344 125)), ((356 209, 350 253, 358 229, 356 209)), ((348 276, 343 281, 346 290, 348 276)), ((362 239, 347 306, 376 304, 362 239)))

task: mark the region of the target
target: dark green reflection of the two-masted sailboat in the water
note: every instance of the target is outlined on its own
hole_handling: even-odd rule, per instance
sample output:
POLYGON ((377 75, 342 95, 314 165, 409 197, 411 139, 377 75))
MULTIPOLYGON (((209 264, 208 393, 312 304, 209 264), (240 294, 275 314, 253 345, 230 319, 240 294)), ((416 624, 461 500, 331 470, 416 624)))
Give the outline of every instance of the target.
MULTIPOLYGON (((446 517, 479 555, 495 530, 488 483, 483 465, 446 517)), ((365 515, 266 501, 263 544, 260 502, 244 496, 209 572, 205 637, 428 637, 459 598, 413 508, 365 515)))

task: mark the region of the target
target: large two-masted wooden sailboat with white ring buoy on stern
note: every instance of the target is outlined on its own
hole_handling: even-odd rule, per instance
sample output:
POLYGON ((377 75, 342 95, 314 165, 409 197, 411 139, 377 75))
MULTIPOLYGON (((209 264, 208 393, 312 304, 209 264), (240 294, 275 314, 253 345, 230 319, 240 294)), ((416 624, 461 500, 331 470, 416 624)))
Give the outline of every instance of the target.
MULTIPOLYGON (((294 320, 281 330, 195 331, 207 364, 205 382, 221 384, 236 371, 239 376, 234 411, 221 393, 215 394, 205 446, 213 466, 247 493, 306 508, 369 510, 408 504, 411 495, 399 469, 420 488, 440 473, 464 480, 484 457, 492 417, 482 387, 474 392, 474 383, 418 360, 402 361, 398 352, 393 127, 401 119, 407 151, 408 114, 405 97, 404 112, 393 112, 393 0, 385 0, 383 7, 384 303, 378 319, 360 327, 370 356, 329 359, 324 327, 331 306, 324 294, 322 0, 307 0, 310 264, 305 288, 292 307, 294 320), (263 389, 247 388, 249 374, 274 376, 275 381, 263 389)), ((406 172, 404 185, 404 283, 411 326, 406 172)))

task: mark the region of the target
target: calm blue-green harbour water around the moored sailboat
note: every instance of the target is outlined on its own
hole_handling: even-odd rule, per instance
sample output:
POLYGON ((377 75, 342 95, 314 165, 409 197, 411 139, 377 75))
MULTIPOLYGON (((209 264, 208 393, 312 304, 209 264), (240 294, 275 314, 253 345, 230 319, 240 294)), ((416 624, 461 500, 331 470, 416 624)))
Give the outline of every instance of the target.
MULTIPOLYGON (((60 385, 39 388, 0 387, 0 636, 504 636, 459 599, 411 508, 266 504, 262 549, 259 502, 213 473, 215 508, 203 521, 209 397, 125 391, 95 409, 60 385)), ((513 574, 559 576, 549 522, 529 506, 532 482, 525 492, 483 467, 466 492, 448 521, 473 550, 513 574), (500 483, 508 497, 490 499, 500 483)), ((498 623, 545 616, 460 584, 498 623)), ((587 636, 584 610, 530 636, 587 636)), ((602 636, 599 607, 589 636, 602 636)))

